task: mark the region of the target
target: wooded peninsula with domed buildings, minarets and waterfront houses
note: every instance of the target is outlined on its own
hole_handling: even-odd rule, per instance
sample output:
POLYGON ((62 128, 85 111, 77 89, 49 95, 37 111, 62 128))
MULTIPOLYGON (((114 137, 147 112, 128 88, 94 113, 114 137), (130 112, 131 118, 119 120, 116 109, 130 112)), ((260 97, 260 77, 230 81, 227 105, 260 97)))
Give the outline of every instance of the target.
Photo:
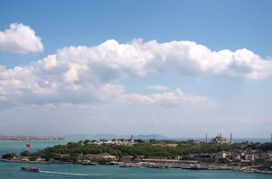
POLYGON ((272 143, 233 143, 216 136, 210 142, 112 139, 84 140, 37 152, 6 153, 4 162, 119 164, 120 167, 236 170, 272 173, 272 143))

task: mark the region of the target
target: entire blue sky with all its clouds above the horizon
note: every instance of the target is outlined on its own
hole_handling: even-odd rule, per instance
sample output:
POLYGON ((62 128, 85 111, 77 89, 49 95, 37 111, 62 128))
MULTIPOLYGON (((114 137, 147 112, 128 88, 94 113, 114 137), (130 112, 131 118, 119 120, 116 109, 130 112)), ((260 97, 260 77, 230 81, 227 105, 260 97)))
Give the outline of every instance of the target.
POLYGON ((0 134, 270 138, 271 1, 1 1, 0 134))

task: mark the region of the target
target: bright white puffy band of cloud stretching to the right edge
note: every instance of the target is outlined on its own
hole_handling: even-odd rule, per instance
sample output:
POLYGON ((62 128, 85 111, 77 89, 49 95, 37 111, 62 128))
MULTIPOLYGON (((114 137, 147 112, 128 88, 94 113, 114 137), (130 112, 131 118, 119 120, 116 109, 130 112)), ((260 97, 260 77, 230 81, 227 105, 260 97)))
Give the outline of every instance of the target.
POLYGON ((272 73, 271 59, 262 59, 250 50, 215 52, 192 41, 133 40, 119 44, 116 40, 107 40, 93 47, 66 47, 57 55, 64 61, 89 64, 101 80, 143 77, 168 69, 176 70, 179 75, 208 73, 254 80, 272 73), (99 73, 101 70, 106 73, 99 73))

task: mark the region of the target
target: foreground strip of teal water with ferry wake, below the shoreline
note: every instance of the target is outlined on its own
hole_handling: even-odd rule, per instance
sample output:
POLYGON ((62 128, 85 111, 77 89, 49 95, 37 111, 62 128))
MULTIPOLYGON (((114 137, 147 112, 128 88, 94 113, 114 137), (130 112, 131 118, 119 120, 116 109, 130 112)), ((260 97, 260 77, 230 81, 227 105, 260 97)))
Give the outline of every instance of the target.
POLYGON ((178 168, 123 168, 118 165, 32 164, 41 172, 20 171, 24 163, 0 162, 0 178, 183 178, 268 179, 270 174, 232 170, 187 170, 178 168))

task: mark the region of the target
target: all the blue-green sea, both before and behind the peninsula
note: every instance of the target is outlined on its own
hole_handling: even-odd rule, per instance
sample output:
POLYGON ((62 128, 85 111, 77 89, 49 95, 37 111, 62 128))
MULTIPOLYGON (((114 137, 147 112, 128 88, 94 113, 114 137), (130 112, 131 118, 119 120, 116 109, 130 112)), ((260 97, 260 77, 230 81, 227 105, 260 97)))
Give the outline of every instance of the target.
MULTIPOLYGON (((19 154, 23 150, 31 152, 53 147, 54 145, 78 142, 77 139, 42 140, 42 141, 0 141, 0 155, 7 152, 19 154), (30 144, 31 147, 26 147, 30 144)), ((255 140, 243 140, 253 141, 255 140)), ((258 140, 269 142, 269 139, 258 140)), ((238 142, 238 141, 237 141, 238 142)), ((0 178, 271 178, 271 174, 246 173, 232 170, 189 170, 179 168, 123 168, 118 165, 77 165, 77 164, 31 164, 40 168, 40 172, 21 171, 20 167, 28 166, 27 163, 0 162, 0 178)))

